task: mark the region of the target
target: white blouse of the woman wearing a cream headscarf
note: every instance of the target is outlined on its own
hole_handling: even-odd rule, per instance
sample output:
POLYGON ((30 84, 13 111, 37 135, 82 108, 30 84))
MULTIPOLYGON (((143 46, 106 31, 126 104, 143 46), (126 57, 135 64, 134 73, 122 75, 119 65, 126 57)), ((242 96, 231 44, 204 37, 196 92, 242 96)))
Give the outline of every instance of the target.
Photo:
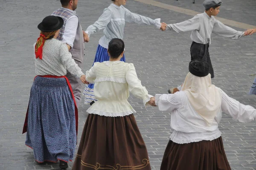
POLYGON ((214 140, 221 136, 218 124, 221 121, 222 111, 230 114, 239 122, 256 120, 256 109, 249 105, 243 105, 237 100, 227 96, 221 90, 221 108, 215 116, 212 125, 194 110, 185 92, 175 94, 156 94, 156 105, 160 111, 171 112, 171 129, 173 130, 170 140, 178 144, 199 142, 202 140, 214 140))

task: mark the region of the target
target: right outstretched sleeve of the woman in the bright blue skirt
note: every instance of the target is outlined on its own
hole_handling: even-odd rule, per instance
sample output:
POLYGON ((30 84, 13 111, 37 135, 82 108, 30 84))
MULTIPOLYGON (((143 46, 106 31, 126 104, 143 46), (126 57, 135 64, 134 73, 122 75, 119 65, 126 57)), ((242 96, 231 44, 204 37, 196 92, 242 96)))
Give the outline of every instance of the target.
POLYGON ((161 28, 160 18, 153 20, 149 17, 144 17, 142 15, 132 13, 126 8, 124 8, 124 10, 125 10, 125 21, 128 23, 154 25, 159 29, 161 28))

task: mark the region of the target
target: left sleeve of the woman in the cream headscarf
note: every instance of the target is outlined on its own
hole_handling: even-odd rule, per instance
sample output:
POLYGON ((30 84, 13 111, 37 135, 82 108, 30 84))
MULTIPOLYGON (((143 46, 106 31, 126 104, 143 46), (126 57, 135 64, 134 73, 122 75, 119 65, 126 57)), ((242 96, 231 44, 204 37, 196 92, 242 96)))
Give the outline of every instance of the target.
POLYGON ((177 94, 156 94, 155 103, 160 111, 171 112, 179 107, 179 102, 177 101, 177 94))

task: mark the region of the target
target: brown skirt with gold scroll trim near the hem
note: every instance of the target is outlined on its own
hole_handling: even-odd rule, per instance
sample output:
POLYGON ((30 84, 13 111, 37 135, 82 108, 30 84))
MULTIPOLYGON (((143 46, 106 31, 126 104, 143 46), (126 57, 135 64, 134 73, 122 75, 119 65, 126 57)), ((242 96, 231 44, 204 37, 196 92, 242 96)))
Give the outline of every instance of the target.
POLYGON ((72 170, 151 170, 133 114, 88 114, 72 170))

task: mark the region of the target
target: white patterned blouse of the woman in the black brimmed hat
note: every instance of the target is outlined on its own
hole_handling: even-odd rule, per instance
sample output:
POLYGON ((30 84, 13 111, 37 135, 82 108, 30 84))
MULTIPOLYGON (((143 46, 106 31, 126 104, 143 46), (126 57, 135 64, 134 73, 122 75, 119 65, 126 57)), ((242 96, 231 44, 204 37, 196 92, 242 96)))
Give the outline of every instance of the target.
POLYGON ((67 70, 78 78, 83 75, 81 68, 72 58, 66 44, 56 40, 55 38, 45 40, 43 46, 43 58, 35 58, 35 74, 40 76, 65 76, 67 74, 67 70))

